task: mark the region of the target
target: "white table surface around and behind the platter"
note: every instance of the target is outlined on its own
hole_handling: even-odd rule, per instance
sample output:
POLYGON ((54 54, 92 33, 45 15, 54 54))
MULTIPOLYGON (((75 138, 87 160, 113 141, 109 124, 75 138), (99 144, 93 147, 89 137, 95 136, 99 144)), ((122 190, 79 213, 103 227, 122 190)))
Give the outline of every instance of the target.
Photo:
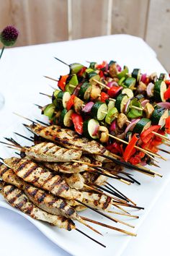
MULTIPOLYGON (((109 35, 100 38, 88 38, 61 43, 50 43, 40 46, 10 48, 4 51, 0 61, 0 92, 4 94, 6 103, 0 111, 0 131, 18 122, 12 111, 25 114, 32 98, 37 95, 37 102, 47 101, 38 93, 51 93, 47 85, 55 86, 43 78, 43 75, 58 78, 68 72, 68 68, 53 59, 57 56, 68 63, 102 61, 115 59, 121 66, 140 67, 142 72, 164 72, 164 67, 156 60, 156 53, 140 38, 130 35, 109 35), (152 61, 157 61, 156 68, 152 61)), ((34 113, 32 113, 33 115, 34 113)), ((26 115, 26 114, 25 114, 26 115)), ((156 205, 148 214, 143 226, 138 229, 138 236, 131 239, 123 256, 169 255, 169 198, 170 186, 166 186, 156 205)), ((50 242, 29 221, 0 208, 0 244, 3 256, 32 255, 65 255, 69 254, 50 242)))

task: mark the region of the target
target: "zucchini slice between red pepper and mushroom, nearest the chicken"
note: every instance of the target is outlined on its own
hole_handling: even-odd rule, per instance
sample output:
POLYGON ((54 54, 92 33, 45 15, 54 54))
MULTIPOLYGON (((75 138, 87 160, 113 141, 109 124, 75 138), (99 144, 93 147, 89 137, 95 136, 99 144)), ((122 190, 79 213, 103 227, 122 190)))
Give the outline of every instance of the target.
POLYGON ((84 135, 89 139, 99 138, 99 134, 97 132, 98 129, 99 129, 99 121, 95 119, 89 119, 84 121, 84 124, 83 124, 84 135))

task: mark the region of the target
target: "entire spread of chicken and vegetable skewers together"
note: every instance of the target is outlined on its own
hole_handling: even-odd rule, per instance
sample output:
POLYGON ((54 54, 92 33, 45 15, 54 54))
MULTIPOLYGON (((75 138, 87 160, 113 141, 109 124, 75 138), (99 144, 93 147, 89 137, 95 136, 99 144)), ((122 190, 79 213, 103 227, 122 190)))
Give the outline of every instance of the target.
POLYGON ((50 124, 26 118, 32 122, 24 124, 31 137, 16 133, 32 146, 19 145, 12 138, 1 142, 19 155, 1 158, 1 193, 10 205, 32 218, 68 231, 76 229, 104 246, 73 221, 98 234, 87 222, 135 236, 78 212, 89 208, 110 221, 134 227, 108 213, 138 218, 126 208, 143 208, 107 179, 140 184, 123 167, 161 176, 145 165, 158 166, 158 158, 166 160, 158 154, 158 145, 170 145, 166 137, 170 132, 170 82, 166 74, 158 78, 141 74, 140 69, 130 74, 128 67, 121 69, 115 61, 68 67, 70 73, 58 80, 60 90, 48 95, 52 103, 38 106, 50 124))

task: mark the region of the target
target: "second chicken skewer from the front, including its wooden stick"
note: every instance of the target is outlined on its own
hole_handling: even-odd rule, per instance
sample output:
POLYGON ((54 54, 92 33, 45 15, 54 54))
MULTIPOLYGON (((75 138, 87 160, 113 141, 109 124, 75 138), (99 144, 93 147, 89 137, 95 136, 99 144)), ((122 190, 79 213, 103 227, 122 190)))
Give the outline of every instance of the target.
MULTIPOLYGON (((4 182, 15 185, 19 189, 23 189, 24 193, 27 195, 29 200, 33 202, 35 205, 37 205, 42 210, 45 210, 48 213, 54 214, 54 215, 61 215, 66 218, 72 218, 75 221, 79 221, 80 223, 87 226, 89 229, 92 229, 93 231, 96 231, 96 229, 89 226, 86 221, 84 221, 85 217, 81 217, 76 213, 76 210, 74 210, 67 202, 66 200, 63 200, 62 198, 55 197, 52 194, 49 194, 45 192, 42 189, 37 189, 36 187, 33 187, 30 184, 27 184, 22 179, 20 179, 14 171, 12 171, 11 168, 8 168, 3 163, 0 163, 0 177, 4 180, 4 182)), ((92 223, 97 223, 97 221, 93 221, 88 218, 87 221, 90 221, 92 223)), ((117 228, 112 226, 107 226, 104 223, 99 223, 101 226, 105 226, 109 229, 115 229, 117 228)), ((117 230, 125 234, 130 234, 134 236, 135 234, 125 231, 125 230, 117 230)), ((99 231, 96 231, 99 233, 99 231)))

